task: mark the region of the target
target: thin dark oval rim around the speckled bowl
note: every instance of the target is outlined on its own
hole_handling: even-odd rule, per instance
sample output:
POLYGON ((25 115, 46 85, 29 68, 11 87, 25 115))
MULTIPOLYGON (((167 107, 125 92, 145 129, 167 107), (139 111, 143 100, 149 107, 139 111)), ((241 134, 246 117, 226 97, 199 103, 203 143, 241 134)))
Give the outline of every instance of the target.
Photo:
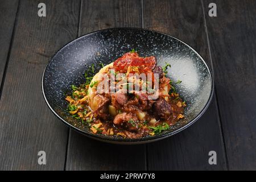
POLYGON ((174 36, 172 35, 168 35, 166 33, 163 33, 163 32, 159 32, 159 31, 155 31, 155 30, 150 30, 150 29, 147 29, 147 28, 137 28, 137 27, 114 27, 114 28, 104 28, 104 29, 101 29, 101 30, 96 30, 96 31, 93 31, 93 32, 90 32, 88 34, 84 34, 84 35, 81 35, 79 36, 79 38, 76 38, 74 40, 72 40, 71 42, 68 42, 67 44, 65 44, 65 46, 61 47, 60 49, 58 49, 53 56, 51 56, 51 58, 49 59, 48 63, 46 64, 46 67, 44 68, 44 71, 43 71, 43 75, 42 75, 42 92, 43 92, 43 97, 44 97, 44 101, 46 102, 47 106, 49 107, 49 109, 52 111, 52 113, 58 118, 60 119, 60 121, 62 121, 66 126, 68 126, 69 128, 77 131, 78 133, 80 134, 83 134, 85 135, 86 137, 89 137, 89 138, 93 138, 93 139, 96 139, 96 140, 100 140, 102 142, 108 142, 108 143, 115 143, 115 144, 143 144, 143 143, 150 143, 150 142, 155 142, 155 141, 158 141, 158 140, 162 140, 164 138, 168 138, 168 137, 171 137, 172 135, 175 135, 177 133, 179 133, 180 131, 183 131, 184 129, 186 129, 187 127, 191 126, 193 123, 195 123, 204 113, 205 111, 208 109, 209 105, 210 105, 210 102, 212 101, 212 98, 213 98, 213 93, 214 93, 214 80, 213 80, 213 74, 212 74, 212 71, 210 70, 208 64, 206 63, 206 61, 203 59, 203 57, 197 52, 195 51, 195 49, 193 49, 191 46, 189 46, 189 44, 183 42, 182 40, 180 39, 177 39, 175 38, 174 36), (92 35, 92 34, 97 34, 98 32, 102 32, 102 31, 111 31, 111 30, 140 30, 140 31, 150 31, 150 32, 155 32, 155 33, 158 33, 158 34, 162 34, 162 35, 166 35, 166 36, 169 36, 173 39, 176 39, 178 40, 179 42, 185 44, 185 46, 187 46, 188 48, 190 48, 194 53, 196 53, 197 56, 199 56, 199 58, 203 61, 203 63, 205 64, 205 66, 207 67, 207 70, 209 72, 209 77, 210 77, 210 82, 211 82, 211 88, 210 88, 210 95, 209 95, 209 98, 207 100, 207 103, 204 105, 203 109, 200 111, 199 114, 196 115, 195 118, 191 119, 190 122, 188 122, 187 124, 185 124, 184 126, 180 127, 179 129, 177 130, 174 130, 174 131, 170 131, 170 132, 166 132, 162 135, 155 135, 155 136, 151 136, 151 137, 143 137, 143 138, 137 138, 137 139, 125 139, 125 138, 110 138, 110 137, 107 137, 107 136, 104 136, 104 135, 96 135, 96 134, 92 134, 92 133, 89 133, 87 131, 84 131, 84 130, 81 130, 81 129, 78 129, 77 127, 71 125, 69 122, 65 121, 65 119, 61 118, 59 114, 57 114, 55 112, 55 110, 53 110, 53 108, 51 107, 51 105, 49 104, 47 98, 46 98, 46 94, 44 93, 44 76, 45 76, 45 73, 46 73, 46 69, 48 68, 49 64, 51 63, 51 61, 53 60, 53 58, 56 56, 56 54, 58 52, 60 52, 62 49, 64 49, 65 47, 69 46, 69 44, 72 44, 74 42, 76 42, 77 40, 80 40, 86 36, 89 36, 89 35, 92 35))

